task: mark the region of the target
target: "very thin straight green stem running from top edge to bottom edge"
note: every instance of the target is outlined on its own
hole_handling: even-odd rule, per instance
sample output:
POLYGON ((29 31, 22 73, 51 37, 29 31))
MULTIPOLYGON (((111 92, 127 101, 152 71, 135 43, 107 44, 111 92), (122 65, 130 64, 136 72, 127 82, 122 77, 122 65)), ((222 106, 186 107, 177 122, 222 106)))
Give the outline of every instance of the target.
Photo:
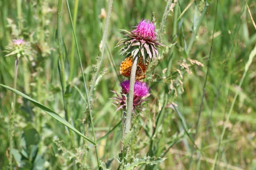
MULTIPOLYGON (((111 1, 113 1, 113 0, 111 0, 111 1)), ((111 2, 111 1, 109 1, 109 2, 111 2)), ((92 130, 93 130, 93 139, 94 139, 94 143, 95 143, 95 152, 96 152, 96 157, 97 157, 97 162, 98 162, 98 168, 100 170, 100 161, 99 161, 99 154, 98 154, 98 149, 97 149, 97 139, 96 139, 95 130, 94 130, 94 126, 93 126, 93 117, 92 117, 92 112, 91 112, 91 108, 90 108, 90 99, 89 99, 89 96, 88 96, 87 85, 86 85, 86 81, 85 81, 85 77, 84 77, 84 68, 83 68, 83 65, 82 65, 82 60, 81 60, 81 56, 80 56, 80 52, 79 52, 79 48, 78 48, 77 39, 76 39, 76 32, 75 32, 75 28, 74 28, 74 25, 73 25, 73 20, 72 20, 68 0, 66 0, 66 3, 67 3, 68 14, 69 14, 69 17, 70 17, 70 22, 71 22, 71 25, 72 25, 73 34, 74 34, 74 38, 75 38, 75 42, 76 42, 76 50, 77 50, 78 57, 79 57, 80 68, 81 68, 83 82, 84 82, 84 89, 85 89, 85 94, 86 94, 86 98, 87 98, 87 105, 88 105, 88 109, 89 109, 89 113, 90 113, 90 121, 91 121, 91 125, 92 125, 92 130)))

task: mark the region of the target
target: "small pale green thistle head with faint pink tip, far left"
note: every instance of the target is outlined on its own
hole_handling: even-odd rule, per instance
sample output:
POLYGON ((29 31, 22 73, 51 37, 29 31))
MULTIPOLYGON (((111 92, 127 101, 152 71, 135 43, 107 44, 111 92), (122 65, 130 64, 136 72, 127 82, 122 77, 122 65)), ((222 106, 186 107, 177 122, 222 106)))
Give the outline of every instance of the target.
POLYGON ((17 58, 29 57, 32 55, 32 48, 30 42, 26 42, 23 39, 12 40, 9 45, 6 46, 5 57, 16 55, 17 58))

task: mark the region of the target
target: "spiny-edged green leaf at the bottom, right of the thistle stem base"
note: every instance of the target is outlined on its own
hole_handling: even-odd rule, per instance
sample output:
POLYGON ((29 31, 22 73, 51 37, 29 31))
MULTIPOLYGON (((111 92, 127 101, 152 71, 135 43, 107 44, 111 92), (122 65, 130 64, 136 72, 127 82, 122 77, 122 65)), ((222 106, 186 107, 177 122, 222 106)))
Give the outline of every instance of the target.
POLYGON ((138 167, 140 164, 149 164, 149 165, 154 165, 154 164, 158 164, 158 163, 160 163, 160 162, 162 162, 162 161, 164 161, 165 159, 167 159, 167 158, 156 158, 156 157, 153 157, 153 158, 151 158, 151 157, 146 157, 146 156, 144 156, 143 158, 140 158, 140 159, 134 159, 134 161, 130 164, 130 163, 128 163, 128 164, 126 164, 125 165, 125 170, 133 170, 134 169, 134 167, 138 167))

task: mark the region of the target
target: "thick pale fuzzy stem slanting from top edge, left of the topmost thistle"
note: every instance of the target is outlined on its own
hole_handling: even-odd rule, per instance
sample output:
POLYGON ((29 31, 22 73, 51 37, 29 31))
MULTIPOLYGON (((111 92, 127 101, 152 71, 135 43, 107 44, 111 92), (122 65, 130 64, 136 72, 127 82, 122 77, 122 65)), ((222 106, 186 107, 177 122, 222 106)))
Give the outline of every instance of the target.
POLYGON ((102 37, 100 49, 99 49, 99 61, 97 62, 96 71, 93 74, 93 78, 91 80, 89 99, 92 98, 93 88, 95 86, 95 83, 96 83, 96 80, 97 80, 97 77, 98 77, 98 74, 99 74, 99 69, 100 69, 100 66, 102 65, 102 61, 103 61, 103 57, 104 57, 104 50, 105 50, 106 40, 107 40, 107 37, 108 37, 108 26, 109 26, 109 23, 110 23, 112 3, 113 3, 113 0, 109 0, 109 2, 108 2, 108 13, 107 13, 107 17, 106 17, 105 28, 104 28, 104 32, 103 32, 103 37, 102 37))

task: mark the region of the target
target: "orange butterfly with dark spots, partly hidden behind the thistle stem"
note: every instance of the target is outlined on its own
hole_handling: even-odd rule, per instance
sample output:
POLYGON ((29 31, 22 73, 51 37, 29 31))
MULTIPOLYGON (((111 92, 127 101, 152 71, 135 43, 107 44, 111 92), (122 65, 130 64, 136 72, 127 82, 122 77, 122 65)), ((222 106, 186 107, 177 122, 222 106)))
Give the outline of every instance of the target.
MULTIPOLYGON (((131 76, 131 66, 132 66, 132 57, 126 58, 124 61, 121 62, 120 65, 120 74, 124 77, 131 76)), ((140 57, 140 61, 137 65, 135 80, 141 80, 145 78, 145 72, 148 68, 148 62, 144 63, 142 57, 140 57)))

